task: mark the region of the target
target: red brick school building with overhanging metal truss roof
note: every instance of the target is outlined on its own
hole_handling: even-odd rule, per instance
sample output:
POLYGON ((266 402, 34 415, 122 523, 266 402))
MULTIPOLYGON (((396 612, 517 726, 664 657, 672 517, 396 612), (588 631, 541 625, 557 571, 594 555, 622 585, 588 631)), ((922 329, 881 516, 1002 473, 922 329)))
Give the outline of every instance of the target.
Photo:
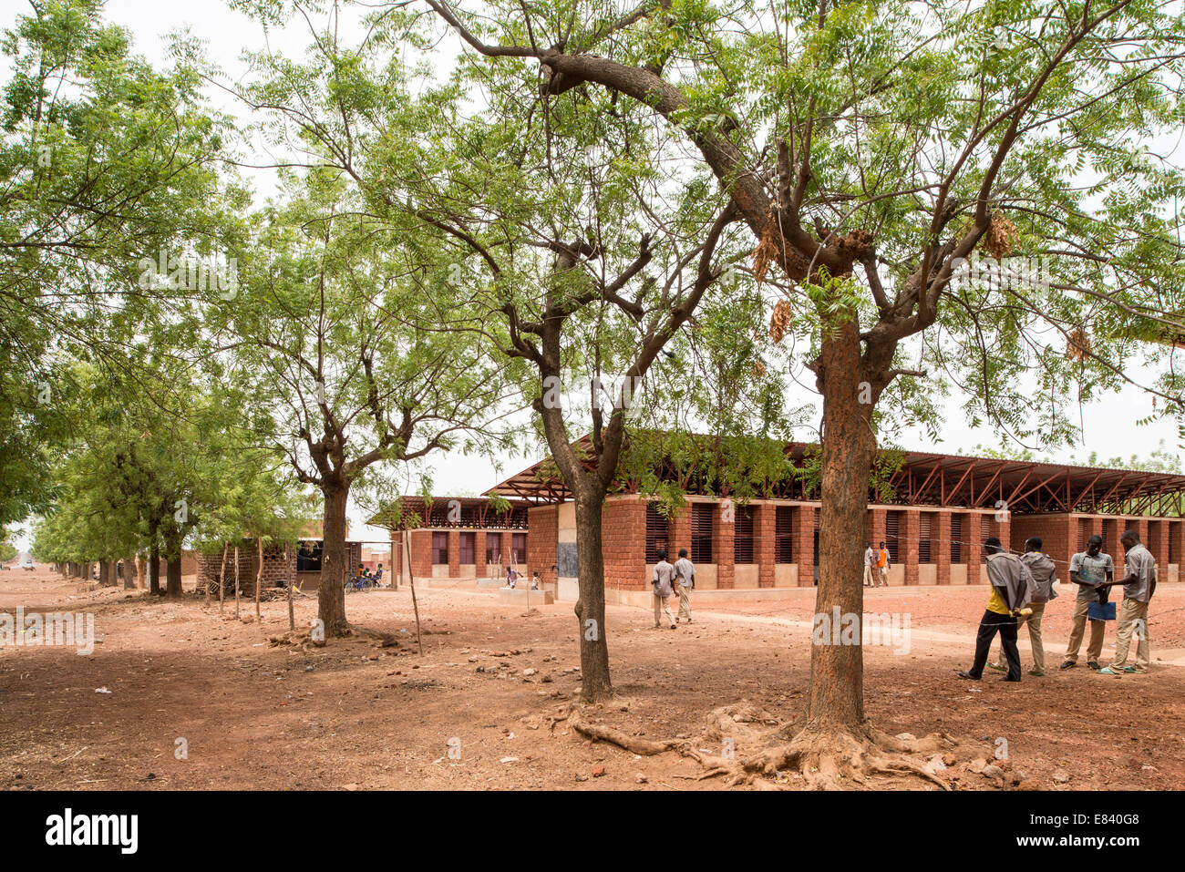
MULTIPOLYGON (((628 449, 627 449, 628 450, 628 449)), ((811 448, 787 444, 788 461, 811 448)), ((1091 534, 1121 566, 1120 534, 1135 528, 1177 582, 1185 553, 1185 475, 1089 468, 904 451, 891 476, 891 502, 870 493, 865 538, 890 553, 889 582, 979 584, 986 581, 982 543, 999 537, 1016 551, 1030 536, 1068 582, 1070 557, 1091 534)), ((692 477, 680 481, 686 506, 667 518, 626 482, 602 515, 608 602, 648 604, 656 551, 686 547, 703 601, 780 598, 818 582, 820 494, 803 477, 758 488, 744 505, 713 495, 692 477)), ((402 520, 374 518, 391 530, 402 579, 438 586, 501 584, 514 565, 526 579, 538 571, 557 600, 576 600, 576 513, 553 464, 540 461, 486 492, 485 498, 405 498, 402 520), (502 498, 495 508, 489 496, 502 498)))

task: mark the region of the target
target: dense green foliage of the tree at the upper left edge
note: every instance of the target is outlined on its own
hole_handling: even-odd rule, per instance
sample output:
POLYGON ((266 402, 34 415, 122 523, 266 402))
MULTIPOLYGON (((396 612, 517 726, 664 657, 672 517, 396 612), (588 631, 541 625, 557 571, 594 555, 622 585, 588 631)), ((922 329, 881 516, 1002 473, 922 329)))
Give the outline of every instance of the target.
POLYGON ((52 502, 62 371, 126 364, 129 322, 192 296, 141 286, 142 261, 225 252, 243 203, 193 68, 154 70, 101 0, 30 9, 0 40, 0 522, 52 502))

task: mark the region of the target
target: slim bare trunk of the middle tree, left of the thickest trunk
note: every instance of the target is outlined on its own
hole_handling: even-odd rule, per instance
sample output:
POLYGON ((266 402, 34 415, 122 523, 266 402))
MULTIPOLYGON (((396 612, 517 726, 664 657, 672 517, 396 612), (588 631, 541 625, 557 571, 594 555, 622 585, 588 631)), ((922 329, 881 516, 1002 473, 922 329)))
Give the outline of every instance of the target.
POLYGON ((613 695, 609 642, 604 627, 604 556, 601 553, 603 494, 576 499, 576 569, 579 598, 576 618, 581 640, 581 699, 597 703, 613 695))

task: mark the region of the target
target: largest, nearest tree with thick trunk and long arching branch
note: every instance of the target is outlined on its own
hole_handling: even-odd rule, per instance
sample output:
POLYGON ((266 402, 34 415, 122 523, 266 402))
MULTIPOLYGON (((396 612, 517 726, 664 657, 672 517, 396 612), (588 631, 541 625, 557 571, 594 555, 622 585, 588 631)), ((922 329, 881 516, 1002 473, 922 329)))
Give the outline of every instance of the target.
MULTIPOLYGON (((863 613, 875 412, 918 363, 1020 437, 1064 437, 1061 405, 1142 378, 1133 354, 1180 415, 1172 350, 1141 344, 1183 310, 1181 174, 1155 150, 1183 117, 1179 6, 424 1, 550 98, 607 91, 683 132, 757 277, 789 280, 771 329, 811 336, 824 406, 819 611, 863 613), (1039 281, 956 281, 980 251, 1044 258, 1039 281)), ((737 776, 831 784, 935 744, 867 722, 858 645, 813 648, 798 727, 737 776)))

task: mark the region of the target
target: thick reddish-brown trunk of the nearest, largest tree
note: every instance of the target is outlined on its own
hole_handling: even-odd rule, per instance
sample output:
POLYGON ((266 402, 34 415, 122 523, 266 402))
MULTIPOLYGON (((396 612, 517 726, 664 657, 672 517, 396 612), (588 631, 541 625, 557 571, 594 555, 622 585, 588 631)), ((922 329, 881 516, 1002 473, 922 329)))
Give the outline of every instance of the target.
MULTIPOLYGON (((857 615, 863 631, 864 522, 876 437, 871 416, 879 390, 864 385, 857 327, 847 322, 825 332, 819 355, 822 391, 822 483, 819 517, 819 592, 815 613, 833 621, 857 615), (863 402, 861 402, 863 400, 863 402)), ((830 627, 830 623, 828 623, 830 627)), ((811 695, 806 726, 857 732, 864 724, 864 652, 856 645, 826 643, 811 649, 811 695)))

